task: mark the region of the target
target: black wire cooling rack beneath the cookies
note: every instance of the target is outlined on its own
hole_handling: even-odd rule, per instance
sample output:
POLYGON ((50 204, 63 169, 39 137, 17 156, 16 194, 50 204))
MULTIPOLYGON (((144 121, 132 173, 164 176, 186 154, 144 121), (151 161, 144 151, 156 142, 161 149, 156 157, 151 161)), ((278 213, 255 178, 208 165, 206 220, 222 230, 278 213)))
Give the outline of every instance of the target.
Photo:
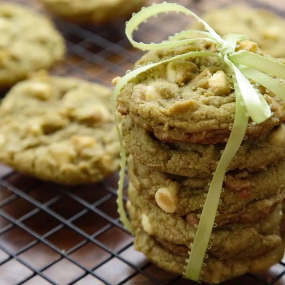
MULTIPOLYGON (((41 9, 34 0, 10 2, 41 9)), ((176 2, 200 13, 228 1, 176 2)), ((55 75, 111 85, 112 78, 124 75, 142 54, 130 47, 123 22, 80 27, 55 21, 68 47, 65 61, 52 71, 55 75)), ((160 42, 188 24, 180 14, 164 15, 143 24, 136 36, 160 42)), ((132 237, 118 219, 117 181, 115 174, 96 185, 67 188, 0 165, 0 285, 194 284, 160 270, 134 250, 132 237)), ((265 273, 247 274, 224 285, 284 285, 284 274, 285 264, 280 262, 265 273)))

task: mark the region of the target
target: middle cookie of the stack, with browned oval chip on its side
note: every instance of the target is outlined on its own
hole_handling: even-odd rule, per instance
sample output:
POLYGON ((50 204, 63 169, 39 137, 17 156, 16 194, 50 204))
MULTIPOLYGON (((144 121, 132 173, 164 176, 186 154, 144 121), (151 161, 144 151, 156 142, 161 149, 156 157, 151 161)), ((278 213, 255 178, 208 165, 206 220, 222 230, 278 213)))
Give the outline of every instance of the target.
MULTIPOLYGON (((245 170, 228 172, 221 193, 216 217, 219 225, 232 222, 258 221, 266 217, 284 197, 285 161, 270 165, 267 170, 249 173, 245 170)), ((196 221, 210 181, 187 178, 153 170, 128 159, 129 180, 148 202, 166 213, 177 213, 188 221, 196 221), (194 217, 193 213, 194 212, 194 217)))

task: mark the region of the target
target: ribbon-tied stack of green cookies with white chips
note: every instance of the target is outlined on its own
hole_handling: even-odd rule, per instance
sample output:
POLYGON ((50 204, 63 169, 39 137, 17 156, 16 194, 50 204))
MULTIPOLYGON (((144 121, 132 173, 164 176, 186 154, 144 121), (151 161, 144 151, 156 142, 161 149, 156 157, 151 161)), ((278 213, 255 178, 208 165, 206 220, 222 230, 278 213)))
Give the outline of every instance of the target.
MULTIPOLYGON (((239 42, 239 49, 261 52, 250 41, 239 42)), ((195 50, 217 51, 201 40, 151 51, 137 65, 195 50)), ((262 124, 249 120, 228 167, 201 272, 207 283, 265 270, 284 253, 285 104, 256 88, 273 115, 262 124)), ((130 153, 127 208, 135 247, 158 266, 183 274, 234 121, 232 73, 216 57, 173 60, 129 81, 117 106, 130 153)))

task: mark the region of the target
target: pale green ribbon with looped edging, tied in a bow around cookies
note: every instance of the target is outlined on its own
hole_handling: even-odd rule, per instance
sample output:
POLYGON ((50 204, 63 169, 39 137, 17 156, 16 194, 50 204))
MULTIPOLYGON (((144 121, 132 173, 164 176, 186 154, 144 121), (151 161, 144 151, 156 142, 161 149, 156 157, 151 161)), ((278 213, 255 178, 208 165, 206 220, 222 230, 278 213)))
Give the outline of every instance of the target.
MULTIPOLYGON (((209 191, 205 200, 205 204, 201 205, 203 210, 200 217, 200 222, 197 227, 196 235, 194 236, 194 242, 191 244, 191 252, 189 252, 188 264, 186 267, 185 277, 198 281, 202 266, 206 264, 203 262, 207 257, 205 254, 213 227, 216 227, 214 223, 217 208, 220 202, 220 195, 222 191, 222 185, 227 167, 231 160, 234 158, 238 151, 243 139, 246 139, 245 133, 248 126, 248 117, 251 117, 252 121, 257 124, 262 123, 271 116, 270 106, 266 100, 255 89, 248 79, 254 80, 257 84, 263 85, 267 88, 267 91, 272 91, 276 96, 285 101, 285 87, 273 77, 279 77, 285 79, 285 65, 280 62, 260 56, 259 54, 251 53, 247 50, 240 50, 235 52, 236 44, 239 40, 246 39, 246 36, 239 34, 229 34, 222 39, 204 20, 199 18, 196 14, 189 9, 175 4, 164 2, 162 4, 154 4, 148 8, 143 7, 140 12, 133 14, 133 17, 126 22, 126 36, 130 43, 141 50, 158 50, 164 48, 178 47, 180 45, 186 45, 197 40, 207 40, 216 43, 219 53, 210 53, 208 51, 191 51, 172 58, 168 58, 157 63, 149 63, 146 66, 139 66, 137 69, 128 72, 122 77, 116 84, 113 91, 114 99, 114 111, 116 109, 116 97, 120 93, 128 81, 138 74, 145 72, 159 64, 164 64, 176 59, 197 57, 197 56, 216 56, 220 57, 232 70, 232 79, 235 89, 236 97, 236 111, 235 120, 232 126, 231 134, 229 136, 227 145, 221 156, 219 164, 213 175, 213 180, 210 183, 209 191), (148 18, 157 15, 162 12, 182 12, 186 15, 194 16, 199 22, 201 22, 205 30, 207 31, 182 31, 170 37, 168 41, 162 43, 145 44, 143 42, 136 42, 133 40, 132 34, 134 30, 148 18), (191 34, 203 34, 206 37, 185 39, 191 34)), ((125 225, 126 229, 133 232, 132 225, 126 216, 126 212, 123 206, 123 186, 124 186, 124 172, 126 166, 126 151, 124 148, 124 141, 122 134, 118 129, 119 140, 121 144, 121 171, 120 180, 118 184, 118 213, 120 219, 125 225)))

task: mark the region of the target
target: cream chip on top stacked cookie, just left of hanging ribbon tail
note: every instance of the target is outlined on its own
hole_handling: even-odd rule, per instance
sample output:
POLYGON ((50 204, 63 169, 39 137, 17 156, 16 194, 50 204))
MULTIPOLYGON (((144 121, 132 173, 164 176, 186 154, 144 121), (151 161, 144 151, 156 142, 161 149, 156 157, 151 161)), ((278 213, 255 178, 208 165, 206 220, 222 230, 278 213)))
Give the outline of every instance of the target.
POLYGON ((209 78, 209 87, 217 95, 227 95, 231 91, 229 77, 222 70, 218 70, 209 78))

